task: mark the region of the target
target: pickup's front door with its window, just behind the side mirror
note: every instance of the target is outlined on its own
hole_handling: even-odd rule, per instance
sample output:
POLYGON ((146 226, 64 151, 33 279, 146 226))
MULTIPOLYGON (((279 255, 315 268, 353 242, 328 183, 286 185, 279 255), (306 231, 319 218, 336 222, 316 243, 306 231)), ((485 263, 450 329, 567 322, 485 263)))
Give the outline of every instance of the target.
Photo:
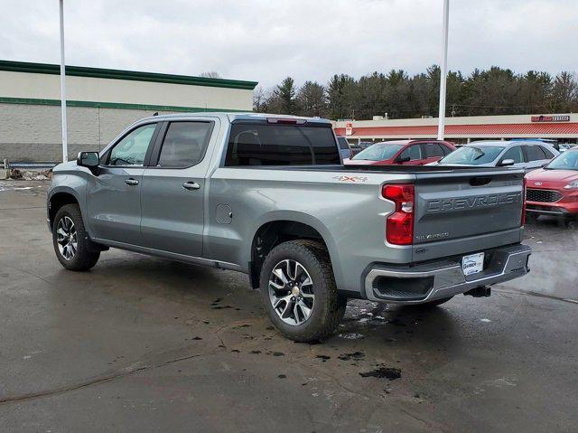
POLYGON ((140 245, 144 159, 156 123, 135 127, 101 156, 98 175, 89 175, 87 209, 95 239, 140 245))

